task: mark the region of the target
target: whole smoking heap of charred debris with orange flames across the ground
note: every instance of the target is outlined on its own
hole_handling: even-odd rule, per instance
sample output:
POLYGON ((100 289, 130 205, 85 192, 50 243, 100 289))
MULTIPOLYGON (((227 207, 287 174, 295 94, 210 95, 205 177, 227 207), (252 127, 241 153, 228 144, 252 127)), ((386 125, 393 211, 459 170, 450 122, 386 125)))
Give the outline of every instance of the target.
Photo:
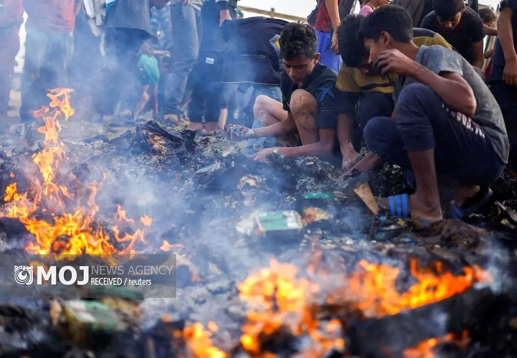
MULTIPOLYGON (((427 358, 514 349, 502 338, 516 326, 513 278, 501 274, 514 263, 484 252, 496 237, 514 250, 505 240, 517 225, 511 175, 494 188, 498 202, 471 218, 479 227, 422 229, 378 215, 374 195, 412 188, 397 168, 338 183, 318 159, 256 163, 224 141, 154 122, 70 144, 58 136, 59 120, 74 114, 69 95, 52 91, 36 113, 40 151, 0 158, 10 173, 3 252, 86 261, 175 253, 177 299, 112 287, 93 300, 77 287, 71 297, 1 304, 2 356, 427 358)), ((0 279, 12 281, 6 264, 0 279)))

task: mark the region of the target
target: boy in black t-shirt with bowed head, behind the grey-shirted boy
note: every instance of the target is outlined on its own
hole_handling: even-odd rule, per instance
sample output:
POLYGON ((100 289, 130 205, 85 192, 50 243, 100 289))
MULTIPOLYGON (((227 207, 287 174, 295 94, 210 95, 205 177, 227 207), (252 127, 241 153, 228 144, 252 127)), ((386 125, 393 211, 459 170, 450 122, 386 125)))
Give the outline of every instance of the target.
POLYGON ((479 14, 465 7, 463 0, 433 0, 432 4, 434 10, 420 27, 442 35, 470 65, 481 69, 486 32, 479 14))

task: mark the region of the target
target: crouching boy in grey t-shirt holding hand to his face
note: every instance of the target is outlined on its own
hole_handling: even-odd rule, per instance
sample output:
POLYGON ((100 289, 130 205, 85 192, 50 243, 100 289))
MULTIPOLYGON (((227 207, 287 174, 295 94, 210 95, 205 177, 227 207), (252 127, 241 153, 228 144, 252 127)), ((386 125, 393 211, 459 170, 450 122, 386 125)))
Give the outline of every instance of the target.
POLYGON ((479 187, 488 190, 503 173, 509 143, 500 108, 473 66, 442 46, 418 48, 412 34, 409 14, 393 5, 372 13, 361 27, 370 63, 400 76, 393 115, 368 122, 364 140, 374 154, 356 168, 379 158, 411 166, 416 193, 381 205, 391 215, 432 223, 443 219, 437 176, 459 185, 451 216, 462 217, 486 196, 479 187))

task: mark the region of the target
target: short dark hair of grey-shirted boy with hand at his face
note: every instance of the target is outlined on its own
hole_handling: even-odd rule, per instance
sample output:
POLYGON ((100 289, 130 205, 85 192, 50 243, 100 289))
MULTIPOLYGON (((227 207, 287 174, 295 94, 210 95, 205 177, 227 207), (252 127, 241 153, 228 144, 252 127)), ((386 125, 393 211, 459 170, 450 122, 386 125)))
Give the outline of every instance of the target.
POLYGON ((362 21, 359 38, 378 41, 383 31, 397 42, 410 42, 413 39, 411 15, 397 5, 379 7, 362 21))

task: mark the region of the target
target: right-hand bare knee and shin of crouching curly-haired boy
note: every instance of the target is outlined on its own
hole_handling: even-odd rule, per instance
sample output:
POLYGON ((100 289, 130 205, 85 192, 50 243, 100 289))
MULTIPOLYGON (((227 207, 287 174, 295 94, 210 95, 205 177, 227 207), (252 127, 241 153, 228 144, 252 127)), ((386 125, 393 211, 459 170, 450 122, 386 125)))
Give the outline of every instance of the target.
POLYGON ((291 96, 290 107, 302 145, 319 141, 316 128, 318 104, 314 96, 304 89, 297 89, 291 96))

